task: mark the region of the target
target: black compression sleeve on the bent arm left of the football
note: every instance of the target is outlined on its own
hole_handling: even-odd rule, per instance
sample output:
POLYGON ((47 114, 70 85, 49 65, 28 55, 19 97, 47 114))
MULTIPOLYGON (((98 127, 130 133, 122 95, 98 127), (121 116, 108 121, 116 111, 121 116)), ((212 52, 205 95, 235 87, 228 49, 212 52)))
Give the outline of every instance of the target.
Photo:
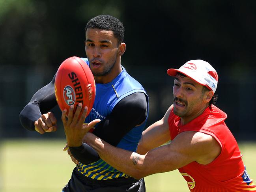
POLYGON ((32 97, 30 102, 24 107, 19 115, 21 125, 28 130, 35 130, 34 122, 54 106, 57 101, 54 94, 54 75, 52 81, 39 89, 32 97))

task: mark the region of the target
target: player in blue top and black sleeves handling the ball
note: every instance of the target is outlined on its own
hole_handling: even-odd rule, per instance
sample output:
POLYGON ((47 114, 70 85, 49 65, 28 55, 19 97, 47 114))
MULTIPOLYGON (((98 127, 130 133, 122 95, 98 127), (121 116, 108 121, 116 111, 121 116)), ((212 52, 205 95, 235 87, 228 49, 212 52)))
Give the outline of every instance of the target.
MULTIPOLYGON (((87 58, 82 59, 89 65, 96 83, 95 101, 85 123, 100 119, 93 130, 95 135, 116 147, 135 152, 148 117, 148 95, 121 65, 126 47, 123 24, 110 15, 99 15, 86 24, 85 33, 87 58)), ((55 76, 22 110, 20 121, 26 129, 41 134, 56 131, 56 117, 49 112, 57 104, 54 80, 55 76)), ((67 120, 64 127, 70 123, 67 120)), ((68 133, 66 136, 69 154, 77 166, 63 192, 146 190, 144 179, 138 180, 116 170, 103 161, 86 141, 76 143, 68 133)))

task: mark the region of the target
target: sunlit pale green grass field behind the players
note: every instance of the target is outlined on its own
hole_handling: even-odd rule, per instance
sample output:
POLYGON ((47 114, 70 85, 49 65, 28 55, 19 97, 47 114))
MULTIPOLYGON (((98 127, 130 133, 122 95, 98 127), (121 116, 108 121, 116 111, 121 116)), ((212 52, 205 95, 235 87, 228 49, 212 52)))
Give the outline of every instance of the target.
MULTIPOLYGON (((0 149, 1 192, 61 192, 75 164, 64 140, 6 140, 0 149)), ((256 179, 256 143, 239 143, 250 177, 256 179)), ((145 178, 147 192, 188 192, 178 171, 145 178)))

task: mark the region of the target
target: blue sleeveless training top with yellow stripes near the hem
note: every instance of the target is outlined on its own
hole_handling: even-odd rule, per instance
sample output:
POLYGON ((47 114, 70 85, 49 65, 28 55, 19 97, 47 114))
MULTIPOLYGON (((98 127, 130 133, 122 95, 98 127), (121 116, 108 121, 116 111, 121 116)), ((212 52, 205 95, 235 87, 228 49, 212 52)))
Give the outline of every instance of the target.
MULTIPOLYGON (((89 65, 87 58, 81 59, 89 65)), ((146 91, 142 87, 142 85, 139 82, 137 82, 133 77, 131 77, 126 72, 124 67, 122 67, 122 69, 123 70, 121 71, 121 73, 118 76, 116 76, 116 78, 114 78, 112 82, 109 82, 107 84, 96 84, 96 96, 93 108, 90 114, 86 117, 86 123, 89 123, 94 119, 105 119, 109 114, 111 114, 114 106, 119 101, 121 101, 121 99, 128 95, 131 95, 132 93, 144 93, 146 95, 148 102, 148 95, 146 94, 146 91)), ((146 119, 147 118, 148 115, 146 119)), ((132 130, 130 130, 121 139, 117 147, 135 152, 137 149, 138 142, 142 136, 142 131, 144 130, 145 125, 146 121, 144 121, 142 125, 134 127, 132 130)), ((95 127, 97 127, 97 125, 95 127)), ((77 169, 83 175, 98 180, 107 180, 118 177, 129 177, 128 175, 125 175, 125 173, 116 170, 102 159, 98 160, 97 162, 93 162, 89 165, 79 163, 77 165, 77 169)))

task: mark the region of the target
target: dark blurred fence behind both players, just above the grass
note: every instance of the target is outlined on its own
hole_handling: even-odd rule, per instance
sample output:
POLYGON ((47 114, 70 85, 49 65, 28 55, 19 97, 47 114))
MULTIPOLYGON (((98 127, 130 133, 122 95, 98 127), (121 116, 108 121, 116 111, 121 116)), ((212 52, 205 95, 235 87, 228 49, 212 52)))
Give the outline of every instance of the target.
MULTIPOLYGON (((146 89, 149 95, 149 119, 147 125, 161 119, 173 101, 173 78, 166 74, 165 67, 138 67, 127 65, 127 71, 146 89), (136 69, 136 70, 133 70, 136 69)), ((65 138, 58 106, 52 112, 58 119, 57 132, 39 134, 24 129, 19 123, 19 113, 37 89, 48 83, 52 76, 49 72, 47 81, 40 71, 22 67, 1 66, 0 87, 0 127, 4 138, 65 138), (4 68, 5 70, 2 70, 4 68), (3 73, 3 71, 9 73, 3 73)), ((255 75, 255 74, 254 74, 255 75)), ((226 124, 237 140, 255 140, 256 138, 256 82, 236 80, 228 82, 220 76, 217 88, 219 99, 217 106, 228 114, 226 124)))

